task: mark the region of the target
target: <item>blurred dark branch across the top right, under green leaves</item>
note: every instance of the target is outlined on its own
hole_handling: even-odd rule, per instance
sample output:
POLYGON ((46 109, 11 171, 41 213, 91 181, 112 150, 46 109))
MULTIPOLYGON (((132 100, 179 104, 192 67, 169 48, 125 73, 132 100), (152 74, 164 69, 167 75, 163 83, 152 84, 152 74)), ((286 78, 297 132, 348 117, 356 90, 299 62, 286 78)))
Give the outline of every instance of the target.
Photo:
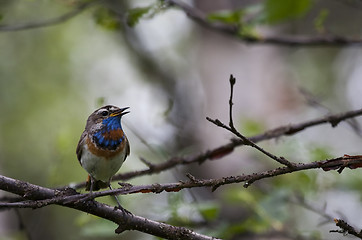
POLYGON ((167 0, 171 6, 176 6, 181 9, 185 14, 193 21, 199 25, 208 28, 210 30, 223 33, 225 35, 232 36, 238 40, 249 43, 249 44, 272 44, 279 46, 304 46, 304 47, 343 47, 351 45, 361 45, 361 38, 348 38, 340 36, 325 36, 325 37, 307 37, 307 36, 283 36, 283 37, 274 37, 274 36, 243 36, 240 34, 240 26, 237 24, 223 24, 223 23, 214 23, 210 22, 207 19, 207 16, 199 11, 196 8, 191 7, 190 5, 178 1, 178 0, 167 0))

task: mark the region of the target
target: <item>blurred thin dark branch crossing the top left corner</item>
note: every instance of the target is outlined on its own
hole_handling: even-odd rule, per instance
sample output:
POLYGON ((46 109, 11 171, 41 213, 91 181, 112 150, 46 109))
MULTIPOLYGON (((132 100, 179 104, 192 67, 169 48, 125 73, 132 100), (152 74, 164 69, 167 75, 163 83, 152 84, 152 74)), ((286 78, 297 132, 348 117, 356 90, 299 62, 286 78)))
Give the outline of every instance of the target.
POLYGON ((0 25, 0 31, 2 32, 14 32, 14 31, 21 31, 21 30, 28 30, 28 29, 34 29, 34 28, 43 28, 43 27, 49 27, 57 24, 64 23, 73 17, 77 16, 87 8, 95 5, 96 3, 100 2, 102 0, 93 0, 93 1, 85 1, 82 4, 79 4, 74 10, 65 13, 61 16, 42 20, 38 22, 30 22, 30 23, 24 23, 24 24, 18 24, 18 25, 0 25))

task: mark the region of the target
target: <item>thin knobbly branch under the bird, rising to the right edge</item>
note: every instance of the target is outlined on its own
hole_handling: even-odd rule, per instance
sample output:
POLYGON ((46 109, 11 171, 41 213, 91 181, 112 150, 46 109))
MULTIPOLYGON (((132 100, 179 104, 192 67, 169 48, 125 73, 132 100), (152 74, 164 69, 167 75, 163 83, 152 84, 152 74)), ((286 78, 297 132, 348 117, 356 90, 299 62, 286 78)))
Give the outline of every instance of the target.
MULTIPOLYGON (((268 170, 259 173, 253 173, 249 175, 237 175, 237 176, 228 176, 217 179, 197 179, 192 175, 188 174, 188 181, 180 181, 177 183, 165 183, 165 184, 150 184, 150 185, 138 185, 133 186, 131 184, 120 184, 123 185, 122 188, 114 189, 114 190, 106 190, 94 192, 92 194, 93 198, 104 197, 108 195, 118 195, 118 194, 135 194, 135 193, 161 193, 161 192, 178 192, 182 189, 186 188, 199 188, 199 187, 210 187, 212 191, 216 190, 218 187, 228 184, 234 183, 242 183, 244 182, 244 187, 249 187, 255 181, 276 177, 288 173, 299 172, 310 169, 322 169, 323 171, 330 170, 338 170, 339 173, 343 171, 345 168, 355 169, 362 167, 362 155, 344 155, 342 157, 321 160, 311 163, 299 163, 294 166, 294 168, 289 167, 281 167, 273 170, 268 170)), ((1 177, 0 177, 0 189, 6 190, 5 187, 1 186, 1 177)), ((11 203, 0 203, 1 208, 39 208, 44 207, 50 204, 58 204, 58 205, 67 205, 71 202, 77 202, 79 199, 84 199, 88 194, 79 194, 75 192, 73 189, 65 189, 65 190, 52 190, 57 191, 57 194, 53 194, 51 197, 42 197, 36 202, 32 201, 21 201, 21 202, 11 202, 11 203), (40 201, 39 201, 40 200, 40 201)), ((6 190, 9 192, 14 192, 9 189, 6 190)), ((30 190, 29 190, 30 191, 30 190)), ((33 191, 33 190, 32 190, 33 191)), ((16 193, 18 195, 23 196, 22 193, 16 193)), ((31 197, 24 197, 26 199, 34 200, 31 197)))

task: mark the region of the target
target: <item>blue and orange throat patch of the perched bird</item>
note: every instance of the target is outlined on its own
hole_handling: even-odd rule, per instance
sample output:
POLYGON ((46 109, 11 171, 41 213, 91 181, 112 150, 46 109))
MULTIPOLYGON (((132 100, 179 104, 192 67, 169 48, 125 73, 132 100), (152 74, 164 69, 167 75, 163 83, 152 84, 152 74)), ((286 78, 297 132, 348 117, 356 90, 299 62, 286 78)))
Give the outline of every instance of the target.
POLYGON ((125 135, 119 117, 109 117, 103 120, 103 128, 93 135, 93 141, 98 147, 115 150, 124 140, 125 135))

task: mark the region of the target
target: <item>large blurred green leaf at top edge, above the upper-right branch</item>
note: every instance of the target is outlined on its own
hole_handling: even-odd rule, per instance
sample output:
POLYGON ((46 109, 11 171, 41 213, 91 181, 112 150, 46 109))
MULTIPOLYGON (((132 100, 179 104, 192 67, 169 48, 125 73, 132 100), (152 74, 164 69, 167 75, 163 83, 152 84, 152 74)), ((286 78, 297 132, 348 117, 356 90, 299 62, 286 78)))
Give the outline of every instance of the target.
POLYGON ((311 5, 312 0, 267 0, 264 5, 266 22, 273 24, 302 17, 311 5))

